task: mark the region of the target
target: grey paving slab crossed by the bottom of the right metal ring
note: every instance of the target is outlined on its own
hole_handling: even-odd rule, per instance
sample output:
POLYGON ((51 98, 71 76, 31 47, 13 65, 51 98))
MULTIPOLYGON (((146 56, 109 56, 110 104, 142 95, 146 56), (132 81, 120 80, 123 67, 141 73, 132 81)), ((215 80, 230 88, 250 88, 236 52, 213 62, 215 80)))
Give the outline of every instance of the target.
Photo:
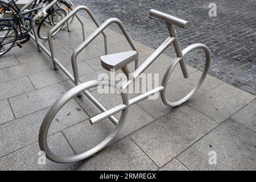
MULTIPOLYGON (((167 86, 167 98, 170 101, 177 101, 179 100, 179 98, 184 97, 192 88, 192 85, 184 82, 183 80, 175 80, 173 82, 170 82, 167 86)), ((197 90, 191 100, 200 96, 201 94, 203 94, 203 91, 201 91, 200 89, 197 90)), ((159 119, 163 115, 171 113, 171 111, 175 109, 174 107, 168 107, 164 105, 162 99, 160 98, 160 95, 158 100, 143 100, 139 102, 138 105, 146 110, 147 113, 150 113, 155 119, 159 119)))

